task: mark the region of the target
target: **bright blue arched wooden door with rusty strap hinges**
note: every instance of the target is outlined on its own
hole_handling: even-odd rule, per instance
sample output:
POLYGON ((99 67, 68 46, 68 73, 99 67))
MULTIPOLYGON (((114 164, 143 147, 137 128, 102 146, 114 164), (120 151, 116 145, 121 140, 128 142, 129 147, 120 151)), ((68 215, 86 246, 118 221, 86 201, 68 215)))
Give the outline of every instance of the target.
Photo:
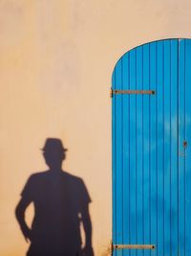
POLYGON ((112 105, 113 255, 191 256, 191 40, 124 54, 112 105))

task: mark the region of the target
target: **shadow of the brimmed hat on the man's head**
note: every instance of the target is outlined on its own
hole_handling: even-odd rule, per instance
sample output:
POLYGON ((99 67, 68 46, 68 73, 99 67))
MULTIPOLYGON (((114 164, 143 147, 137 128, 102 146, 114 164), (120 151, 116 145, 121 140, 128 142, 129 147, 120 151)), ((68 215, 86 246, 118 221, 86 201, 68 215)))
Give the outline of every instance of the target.
POLYGON ((42 151, 68 151, 64 148, 62 141, 57 138, 46 139, 45 146, 41 149, 42 151))

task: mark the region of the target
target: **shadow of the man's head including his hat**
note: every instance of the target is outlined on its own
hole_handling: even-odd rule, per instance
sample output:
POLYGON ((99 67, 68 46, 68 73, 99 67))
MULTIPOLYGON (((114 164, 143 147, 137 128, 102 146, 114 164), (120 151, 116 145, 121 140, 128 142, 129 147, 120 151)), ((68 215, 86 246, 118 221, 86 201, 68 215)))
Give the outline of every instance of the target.
POLYGON ((66 158, 67 149, 64 148, 60 139, 47 138, 45 146, 41 150, 50 169, 61 168, 62 161, 66 158))

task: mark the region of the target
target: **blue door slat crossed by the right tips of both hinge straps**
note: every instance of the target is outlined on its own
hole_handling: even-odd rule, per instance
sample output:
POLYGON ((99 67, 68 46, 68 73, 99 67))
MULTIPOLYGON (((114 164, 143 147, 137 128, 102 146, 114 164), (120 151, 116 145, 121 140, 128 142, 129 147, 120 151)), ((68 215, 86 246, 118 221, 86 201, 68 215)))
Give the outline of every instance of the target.
MULTIPOLYGON (((157 90, 157 43, 150 44, 150 89, 157 90)), ((157 244, 157 97, 150 97, 151 244, 157 244)), ((157 249, 151 251, 157 255, 157 249)))

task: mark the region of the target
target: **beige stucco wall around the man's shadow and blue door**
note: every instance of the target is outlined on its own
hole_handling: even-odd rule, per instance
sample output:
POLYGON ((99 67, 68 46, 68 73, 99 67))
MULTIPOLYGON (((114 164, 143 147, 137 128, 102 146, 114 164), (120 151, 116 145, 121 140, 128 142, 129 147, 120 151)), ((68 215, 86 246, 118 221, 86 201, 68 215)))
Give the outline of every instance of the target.
MULTIPOLYGON (((96 256, 111 241, 111 76, 117 58, 191 36, 189 0, 0 0, 0 256, 25 255, 14 218, 26 179, 46 170, 47 137, 91 195, 96 256)), ((32 219, 32 208, 28 211, 32 219)))

